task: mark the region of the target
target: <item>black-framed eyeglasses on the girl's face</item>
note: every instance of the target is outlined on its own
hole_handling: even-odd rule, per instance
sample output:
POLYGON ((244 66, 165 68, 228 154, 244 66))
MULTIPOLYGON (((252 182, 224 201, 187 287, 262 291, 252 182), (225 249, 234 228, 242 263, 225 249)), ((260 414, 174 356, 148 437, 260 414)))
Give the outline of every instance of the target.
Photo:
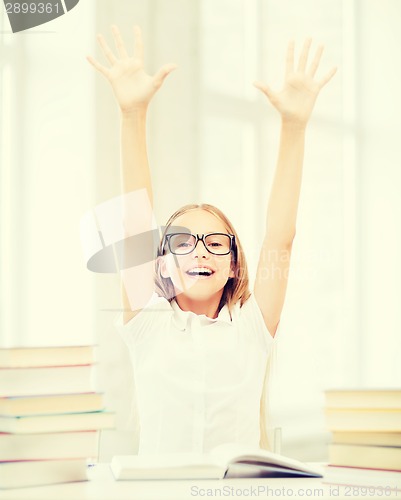
MULTIPOLYGON (((233 234, 209 233, 170 233, 165 235, 169 250, 174 255, 186 255, 193 252, 199 241, 202 241, 206 250, 214 255, 228 255, 233 248, 235 237, 233 234)), ((164 249, 164 244, 163 244, 164 249)))

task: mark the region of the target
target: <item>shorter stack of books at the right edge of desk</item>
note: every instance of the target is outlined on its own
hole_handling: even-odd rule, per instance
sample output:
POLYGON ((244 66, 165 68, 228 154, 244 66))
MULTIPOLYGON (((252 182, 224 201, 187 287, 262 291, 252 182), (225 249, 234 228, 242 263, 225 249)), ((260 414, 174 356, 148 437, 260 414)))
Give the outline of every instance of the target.
POLYGON ((344 484, 401 489, 401 389, 325 395, 332 433, 327 476, 344 484))

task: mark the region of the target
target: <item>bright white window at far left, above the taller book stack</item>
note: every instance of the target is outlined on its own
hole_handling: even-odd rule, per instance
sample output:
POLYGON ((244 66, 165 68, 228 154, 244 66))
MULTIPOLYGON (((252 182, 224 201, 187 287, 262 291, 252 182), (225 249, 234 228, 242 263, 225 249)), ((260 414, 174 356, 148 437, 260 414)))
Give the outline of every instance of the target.
MULTIPOLYGON (((82 4, 82 6, 81 6, 82 4)), ((93 203, 93 5, 12 33, 0 8, 1 344, 94 341, 79 220, 93 203)))

